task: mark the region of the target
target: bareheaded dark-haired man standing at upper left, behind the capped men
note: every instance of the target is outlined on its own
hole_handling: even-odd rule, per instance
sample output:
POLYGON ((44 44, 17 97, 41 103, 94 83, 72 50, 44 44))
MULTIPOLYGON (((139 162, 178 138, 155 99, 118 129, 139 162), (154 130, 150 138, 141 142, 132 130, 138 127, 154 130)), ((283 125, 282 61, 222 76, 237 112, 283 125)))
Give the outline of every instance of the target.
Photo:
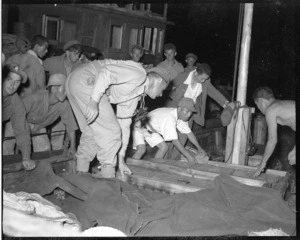
POLYGON ((24 69, 28 76, 29 84, 23 86, 20 96, 26 97, 39 89, 46 88, 46 76, 41 60, 47 53, 48 39, 42 35, 36 35, 31 41, 31 49, 25 54, 15 54, 9 57, 6 63, 17 63, 24 69))

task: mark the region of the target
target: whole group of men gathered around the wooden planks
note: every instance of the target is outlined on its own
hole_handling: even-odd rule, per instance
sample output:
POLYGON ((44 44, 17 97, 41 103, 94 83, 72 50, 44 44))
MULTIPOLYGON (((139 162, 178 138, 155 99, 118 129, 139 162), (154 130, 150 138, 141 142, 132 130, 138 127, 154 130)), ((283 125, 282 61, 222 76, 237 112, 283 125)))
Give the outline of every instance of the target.
MULTIPOLYGON (((223 108, 234 108, 234 103, 212 85, 210 66, 206 63, 195 65, 197 56, 189 53, 184 68, 175 59, 174 44, 165 44, 165 60, 156 66, 140 63, 143 48, 138 45, 130 49, 131 60, 104 59, 85 64, 80 59, 81 45, 76 40, 64 45, 63 55, 42 61, 47 47, 45 37, 35 36, 30 50, 10 57, 3 67, 3 121, 8 121, 4 136, 15 136, 27 170, 35 167, 30 157, 30 134, 37 133, 32 137, 34 151, 62 148, 64 135, 51 137, 50 144, 47 135, 42 134, 49 126, 53 132, 67 130, 69 150, 76 158, 79 174, 89 171, 95 156, 100 162, 100 171, 94 177, 113 178, 116 168, 121 175, 131 174, 125 162, 131 136, 136 159, 145 154, 147 142, 158 148, 156 158, 177 159, 178 154, 183 154, 188 161, 195 161, 195 156, 184 146, 189 139, 198 154, 206 156, 191 129, 193 122, 200 126, 205 124, 207 96, 223 108), (49 72, 48 81, 45 71, 49 72), (145 96, 151 99, 162 96, 168 86, 171 87, 165 106, 151 111, 143 120, 134 120, 131 132, 139 103, 142 104, 145 96), (116 110, 112 104, 116 105, 116 110), (76 149, 78 127, 81 137, 76 149)), ((294 102, 275 100, 270 92, 261 93, 266 89, 258 90, 254 97, 258 108, 266 114, 270 132, 264 159, 256 175, 264 169, 274 150, 275 125, 288 125, 296 131, 294 102)), ((3 143, 6 154, 14 151, 11 141, 3 143)), ((290 159, 295 156, 294 152, 290 159)))

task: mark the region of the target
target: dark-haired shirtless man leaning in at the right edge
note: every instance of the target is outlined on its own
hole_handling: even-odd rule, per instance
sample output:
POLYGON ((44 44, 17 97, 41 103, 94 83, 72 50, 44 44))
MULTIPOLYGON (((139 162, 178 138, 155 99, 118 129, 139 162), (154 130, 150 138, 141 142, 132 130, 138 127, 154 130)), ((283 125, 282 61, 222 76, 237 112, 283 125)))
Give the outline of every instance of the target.
MULTIPOLYGON (((268 126, 268 142, 265 148, 261 164, 257 167, 254 177, 257 177, 265 169, 270 156, 277 144, 277 124, 289 126, 296 132, 296 107, 295 101, 277 100, 272 90, 268 87, 257 88, 253 93, 253 99, 258 109, 265 114, 268 126)), ((288 155, 291 165, 296 164, 296 146, 288 155)))

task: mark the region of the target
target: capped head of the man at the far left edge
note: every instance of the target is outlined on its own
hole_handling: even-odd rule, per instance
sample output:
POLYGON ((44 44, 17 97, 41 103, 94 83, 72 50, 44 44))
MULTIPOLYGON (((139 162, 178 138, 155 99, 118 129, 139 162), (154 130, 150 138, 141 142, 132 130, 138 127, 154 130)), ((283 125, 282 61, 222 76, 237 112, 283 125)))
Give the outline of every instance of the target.
POLYGON ((27 74, 16 63, 6 64, 2 69, 2 94, 13 95, 21 83, 27 81, 27 74))

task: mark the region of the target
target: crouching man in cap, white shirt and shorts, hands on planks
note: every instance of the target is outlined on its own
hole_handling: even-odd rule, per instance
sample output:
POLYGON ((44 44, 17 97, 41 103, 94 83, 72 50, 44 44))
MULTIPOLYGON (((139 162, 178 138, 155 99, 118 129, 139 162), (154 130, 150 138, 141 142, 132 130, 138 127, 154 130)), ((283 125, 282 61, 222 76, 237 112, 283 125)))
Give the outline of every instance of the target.
POLYGON ((177 108, 157 108, 148 113, 146 126, 135 124, 133 130, 133 148, 136 152, 133 155, 135 159, 141 159, 146 152, 145 141, 150 147, 157 147, 158 151, 154 158, 164 158, 168 150, 166 142, 172 141, 180 153, 182 153, 189 162, 196 159, 184 148, 178 140, 177 130, 185 134, 187 138, 195 145, 198 153, 203 155, 204 150, 200 147, 195 135, 192 133, 188 119, 193 112, 196 112, 194 102, 190 98, 182 98, 177 108))

